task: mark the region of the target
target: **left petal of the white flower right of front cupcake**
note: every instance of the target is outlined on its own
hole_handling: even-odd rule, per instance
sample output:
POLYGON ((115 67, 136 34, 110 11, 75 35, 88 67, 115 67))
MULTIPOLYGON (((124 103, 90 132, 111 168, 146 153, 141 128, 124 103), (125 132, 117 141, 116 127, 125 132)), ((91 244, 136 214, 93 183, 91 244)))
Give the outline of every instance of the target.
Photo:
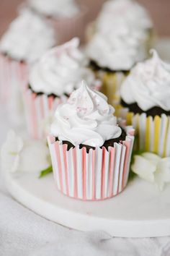
POLYGON ((154 182, 153 173, 156 171, 156 165, 153 164, 153 162, 148 161, 146 158, 143 158, 143 156, 135 155, 135 161, 131 168, 140 178, 148 182, 154 182))

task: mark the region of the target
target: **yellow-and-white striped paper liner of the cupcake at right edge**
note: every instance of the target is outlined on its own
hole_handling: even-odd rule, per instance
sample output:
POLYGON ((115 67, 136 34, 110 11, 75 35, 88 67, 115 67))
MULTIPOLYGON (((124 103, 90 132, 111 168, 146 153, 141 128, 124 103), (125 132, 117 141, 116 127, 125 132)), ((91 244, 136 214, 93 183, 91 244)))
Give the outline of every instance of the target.
POLYGON ((170 156, 170 116, 146 116, 128 112, 128 108, 120 108, 119 116, 133 125, 136 133, 135 150, 153 152, 161 157, 170 156))

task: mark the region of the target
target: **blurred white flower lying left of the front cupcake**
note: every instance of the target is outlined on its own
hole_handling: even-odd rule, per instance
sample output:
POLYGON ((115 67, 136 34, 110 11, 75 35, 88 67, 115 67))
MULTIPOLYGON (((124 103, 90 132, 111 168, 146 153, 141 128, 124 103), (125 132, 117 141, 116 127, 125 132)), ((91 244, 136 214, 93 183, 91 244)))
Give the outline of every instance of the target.
POLYGON ((50 153, 43 140, 22 140, 10 131, 1 148, 2 168, 9 172, 38 172, 48 168, 50 153))

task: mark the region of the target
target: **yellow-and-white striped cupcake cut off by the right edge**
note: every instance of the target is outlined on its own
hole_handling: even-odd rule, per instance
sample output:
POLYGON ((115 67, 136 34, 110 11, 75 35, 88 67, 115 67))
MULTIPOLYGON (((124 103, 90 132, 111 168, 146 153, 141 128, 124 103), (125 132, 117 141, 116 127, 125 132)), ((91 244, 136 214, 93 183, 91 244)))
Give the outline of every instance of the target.
POLYGON ((138 63, 120 90, 120 115, 135 127, 138 150, 170 156, 170 64, 156 51, 138 63))

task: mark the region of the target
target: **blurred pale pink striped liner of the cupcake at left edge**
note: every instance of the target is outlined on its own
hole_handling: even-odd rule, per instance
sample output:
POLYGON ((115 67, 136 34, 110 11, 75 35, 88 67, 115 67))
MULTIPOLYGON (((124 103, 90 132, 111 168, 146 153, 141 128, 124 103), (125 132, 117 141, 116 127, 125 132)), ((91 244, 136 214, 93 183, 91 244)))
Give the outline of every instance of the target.
MULTIPOLYGON (((16 91, 27 86, 28 67, 19 61, 0 54, 0 102, 10 103, 16 100, 16 91)), ((19 98, 21 95, 19 94, 19 98)), ((17 98, 17 100, 19 99, 17 98)))

